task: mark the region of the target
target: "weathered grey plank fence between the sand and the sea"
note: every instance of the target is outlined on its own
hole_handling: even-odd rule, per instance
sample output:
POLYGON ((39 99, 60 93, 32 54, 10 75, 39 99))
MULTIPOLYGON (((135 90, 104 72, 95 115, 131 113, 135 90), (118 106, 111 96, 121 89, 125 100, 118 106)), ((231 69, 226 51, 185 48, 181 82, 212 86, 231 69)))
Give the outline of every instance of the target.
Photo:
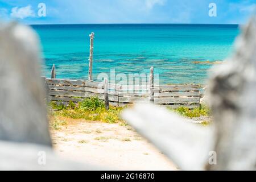
POLYGON ((195 108, 200 103, 199 85, 129 85, 108 84, 88 80, 64 80, 46 78, 48 101, 79 102, 88 97, 108 100, 110 105, 124 106, 135 102, 154 102, 176 109, 185 106, 195 108), (150 95, 153 92, 153 97, 150 95))

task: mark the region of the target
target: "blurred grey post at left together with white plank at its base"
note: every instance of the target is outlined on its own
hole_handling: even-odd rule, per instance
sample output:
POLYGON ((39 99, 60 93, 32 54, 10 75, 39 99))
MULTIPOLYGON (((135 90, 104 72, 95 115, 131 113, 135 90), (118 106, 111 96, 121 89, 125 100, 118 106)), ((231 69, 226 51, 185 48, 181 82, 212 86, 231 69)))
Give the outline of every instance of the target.
POLYGON ((38 45, 27 26, 0 23, 0 170, 99 170, 52 151, 38 45))

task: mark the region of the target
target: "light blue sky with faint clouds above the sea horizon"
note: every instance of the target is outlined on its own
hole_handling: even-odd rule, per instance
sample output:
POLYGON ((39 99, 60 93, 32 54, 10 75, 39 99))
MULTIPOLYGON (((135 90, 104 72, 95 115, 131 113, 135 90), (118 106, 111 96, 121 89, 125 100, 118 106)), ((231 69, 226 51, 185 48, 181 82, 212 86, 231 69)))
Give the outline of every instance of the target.
POLYGON ((243 24, 256 0, 0 0, 0 19, 26 24, 69 23, 224 23, 243 24), (46 16, 38 16, 38 4, 46 16), (209 3, 217 16, 210 17, 209 3))

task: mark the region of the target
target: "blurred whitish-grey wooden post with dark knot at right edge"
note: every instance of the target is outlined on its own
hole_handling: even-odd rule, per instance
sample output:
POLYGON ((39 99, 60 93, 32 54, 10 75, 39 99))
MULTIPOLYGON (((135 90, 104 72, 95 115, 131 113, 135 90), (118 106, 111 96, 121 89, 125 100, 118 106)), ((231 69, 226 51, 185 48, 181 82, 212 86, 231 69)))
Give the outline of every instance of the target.
POLYGON ((210 80, 217 165, 208 169, 256 169, 256 19, 243 28, 236 53, 210 80))

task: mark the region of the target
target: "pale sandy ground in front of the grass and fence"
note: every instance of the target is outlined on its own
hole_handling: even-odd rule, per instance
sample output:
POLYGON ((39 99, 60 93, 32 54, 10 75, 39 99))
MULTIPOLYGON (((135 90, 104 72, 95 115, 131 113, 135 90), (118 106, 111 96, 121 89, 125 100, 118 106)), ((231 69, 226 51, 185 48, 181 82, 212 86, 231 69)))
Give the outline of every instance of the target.
POLYGON ((62 119, 68 125, 51 134, 55 151, 65 158, 119 170, 177 170, 130 126, 62 119))

